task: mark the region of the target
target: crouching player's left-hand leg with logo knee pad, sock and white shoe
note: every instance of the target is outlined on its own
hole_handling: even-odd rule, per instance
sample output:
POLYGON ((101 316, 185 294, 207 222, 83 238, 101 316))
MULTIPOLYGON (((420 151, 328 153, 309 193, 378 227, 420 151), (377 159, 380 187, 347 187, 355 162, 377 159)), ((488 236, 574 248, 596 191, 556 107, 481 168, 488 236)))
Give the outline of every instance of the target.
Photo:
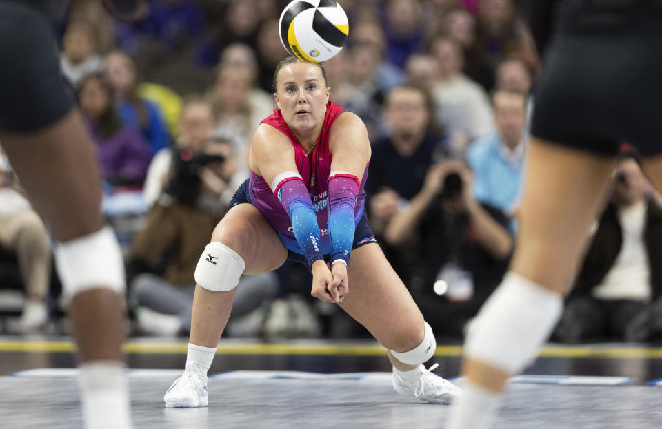
POLYGON ((186 368, 165 393, 166 407, 208 405, 207 372, 228 323, 239 276, 276 269, 287 254, 274 229, 250 204, 232 207, 219 222, 198 262, 186 368))

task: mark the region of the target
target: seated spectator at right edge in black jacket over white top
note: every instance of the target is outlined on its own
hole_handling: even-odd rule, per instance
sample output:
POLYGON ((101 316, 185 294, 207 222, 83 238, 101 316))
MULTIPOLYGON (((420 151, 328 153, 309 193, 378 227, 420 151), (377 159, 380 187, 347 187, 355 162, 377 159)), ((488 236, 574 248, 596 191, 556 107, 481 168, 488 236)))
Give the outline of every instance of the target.
POLYGON ((612 198, 566 300, 557 340, 642 342, 662 332, 660 305, 651 305, 662 302, 662 207, 648 187, 636 155, 621 154, 612 198))

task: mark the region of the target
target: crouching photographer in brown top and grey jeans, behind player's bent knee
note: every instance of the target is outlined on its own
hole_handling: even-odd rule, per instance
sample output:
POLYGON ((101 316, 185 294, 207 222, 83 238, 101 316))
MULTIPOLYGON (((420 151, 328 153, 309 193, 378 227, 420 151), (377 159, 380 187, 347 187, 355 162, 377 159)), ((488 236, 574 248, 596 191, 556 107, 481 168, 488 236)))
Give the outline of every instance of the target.
MULTIPOLYGON (((190 331, 193 274, 200 249, 228 209, 227 204, 219 205, 219 196, 236 171, 233 158, 232 145, 226 140, 207 140, 198 151, 180 151, 167 195, 152 207, 137 233, 131 252, 130 271, 135 276, 130 282, 130 301, 146 333, 190 331)), ((271 300, 276 288, 272 273, 243 276, 231 320, 271 300)))

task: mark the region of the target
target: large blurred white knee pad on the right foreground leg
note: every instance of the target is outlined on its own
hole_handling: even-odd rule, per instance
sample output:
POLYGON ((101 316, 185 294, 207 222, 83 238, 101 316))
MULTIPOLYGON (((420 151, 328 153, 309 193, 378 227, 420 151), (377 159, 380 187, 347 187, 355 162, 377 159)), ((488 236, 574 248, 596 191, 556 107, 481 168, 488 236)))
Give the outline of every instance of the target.
POLYGON ((471 323, 464 354, 505 373, 520 373, 535 359, 562 310, 559 293, 508 273, 471 323))

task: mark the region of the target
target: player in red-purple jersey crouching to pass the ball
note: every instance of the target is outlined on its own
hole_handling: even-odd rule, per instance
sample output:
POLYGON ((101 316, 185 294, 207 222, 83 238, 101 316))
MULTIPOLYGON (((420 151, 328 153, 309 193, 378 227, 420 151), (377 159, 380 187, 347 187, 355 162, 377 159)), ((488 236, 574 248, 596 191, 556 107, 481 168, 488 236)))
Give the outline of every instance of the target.
POLYGON ((329 101, 319 63, 284 59, 274 89, 278 109, 254 134, 250 180, 198 262, 186 368, 165 393, 165 406, 208 405, 207 372, 239 275, 277 269, 288 258, 312 271, 313 296, 341 306, 389 350, 395 390, 432 403, 453 401, 459 388, 432 374, 436 366, 423 366, 436 347, 432 328, 363 212, 370 160, 363 121, 329 101))

